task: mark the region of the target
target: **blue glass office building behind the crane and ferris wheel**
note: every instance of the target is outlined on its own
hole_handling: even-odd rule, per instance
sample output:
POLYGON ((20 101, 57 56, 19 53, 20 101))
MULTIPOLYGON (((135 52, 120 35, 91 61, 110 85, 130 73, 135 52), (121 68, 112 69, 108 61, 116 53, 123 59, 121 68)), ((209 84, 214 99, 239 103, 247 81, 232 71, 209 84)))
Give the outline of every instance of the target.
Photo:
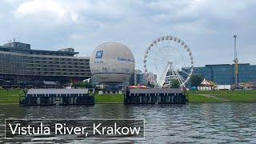
MULTIPOLYGON (((188 68, 182 70, 189 71, 188 68)), ((234 64, 219 64, 194 67, 193 74, 201 74, 209 81, 218 85, 234 84, 234 64)), ((238 82, 256 82, 256 65, 250 63, 238 64, 238 82)))

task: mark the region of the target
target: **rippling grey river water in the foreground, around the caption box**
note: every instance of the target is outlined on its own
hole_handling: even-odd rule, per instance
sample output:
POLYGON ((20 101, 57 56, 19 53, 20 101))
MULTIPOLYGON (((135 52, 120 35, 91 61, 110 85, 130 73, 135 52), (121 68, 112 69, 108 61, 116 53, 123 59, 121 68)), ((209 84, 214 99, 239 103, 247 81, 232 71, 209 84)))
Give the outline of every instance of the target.
POLYGON ((256 143, 256 103, 187 105, 0 106, 0 143, 256 143), (145 119, 145 138, 132 140, 4 138, 4 118, 145 119))

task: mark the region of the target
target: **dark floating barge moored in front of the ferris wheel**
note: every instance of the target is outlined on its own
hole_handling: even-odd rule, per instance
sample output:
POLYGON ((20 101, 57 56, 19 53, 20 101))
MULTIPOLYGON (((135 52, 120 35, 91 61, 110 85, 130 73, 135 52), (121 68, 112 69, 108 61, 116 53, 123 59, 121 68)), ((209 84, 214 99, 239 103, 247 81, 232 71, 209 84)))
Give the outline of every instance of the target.
POLYGON ((181 89, 130 89, 124 94, 125 104, 185 104, 188 102, 181 89))

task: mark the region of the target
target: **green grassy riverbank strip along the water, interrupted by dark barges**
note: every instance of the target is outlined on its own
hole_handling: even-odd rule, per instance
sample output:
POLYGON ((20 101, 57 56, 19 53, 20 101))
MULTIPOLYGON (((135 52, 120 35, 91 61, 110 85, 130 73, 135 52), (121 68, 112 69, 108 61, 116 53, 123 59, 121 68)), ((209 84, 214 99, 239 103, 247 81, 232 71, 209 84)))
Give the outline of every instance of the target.
MULTIPOLYGON (((18 104, 21 90, 0 90, 0 104, 18 104)), ((256 102, 256 90, 187 91, 190 103, 204 102, 256 102)), ((96 94, 95 103, 123 103, 123 94, 96 94)))

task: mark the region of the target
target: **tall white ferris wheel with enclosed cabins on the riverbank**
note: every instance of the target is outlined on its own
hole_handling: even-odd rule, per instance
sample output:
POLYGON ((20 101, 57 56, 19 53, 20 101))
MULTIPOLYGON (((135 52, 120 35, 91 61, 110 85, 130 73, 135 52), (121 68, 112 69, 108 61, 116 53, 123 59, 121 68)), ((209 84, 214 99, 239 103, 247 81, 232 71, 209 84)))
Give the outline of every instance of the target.
POLYGON ((174 36, 155 39, 144 55, 144 69, 155 87, 170 86, 174 79, 185 87, 194 69, 194 59, 189 46, 174 36), (156 74, 156 79, 151 75, 156 74))

